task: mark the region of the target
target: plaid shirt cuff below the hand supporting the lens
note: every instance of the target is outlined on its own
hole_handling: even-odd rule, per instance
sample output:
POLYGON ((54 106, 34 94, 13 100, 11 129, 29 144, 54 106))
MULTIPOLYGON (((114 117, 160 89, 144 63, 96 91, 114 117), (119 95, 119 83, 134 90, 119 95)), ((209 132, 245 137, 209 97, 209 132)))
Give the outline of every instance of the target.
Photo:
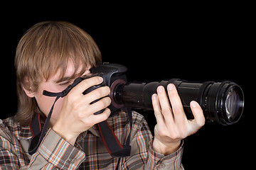
POLYGON ((181 164, 182 154, 183 154, 183 140, 181 141, 181 147, 172 154, 164 156, 154 152, 152 149, 153 140, 151 140, 149 145, 149 159, 147 159, 147 164, 151 169, 183 169, 181 164))

